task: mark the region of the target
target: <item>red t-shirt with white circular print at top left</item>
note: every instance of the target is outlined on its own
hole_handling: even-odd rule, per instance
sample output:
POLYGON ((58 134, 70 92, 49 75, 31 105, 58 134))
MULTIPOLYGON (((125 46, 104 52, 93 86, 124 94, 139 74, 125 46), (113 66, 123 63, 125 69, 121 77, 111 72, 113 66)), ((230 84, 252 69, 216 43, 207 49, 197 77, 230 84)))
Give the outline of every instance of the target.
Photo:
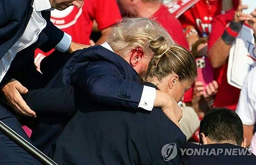
MULTIPOLYGON (((78 9, 70 6, 65 10, 53 10, 51 21, 55 26, 72 36, 72 41, 89 45, 93 20, 103 30, 121 20, 116 0, 84 0, 78 9)), ((36 50, 38 54, 38 50, 36 50)))

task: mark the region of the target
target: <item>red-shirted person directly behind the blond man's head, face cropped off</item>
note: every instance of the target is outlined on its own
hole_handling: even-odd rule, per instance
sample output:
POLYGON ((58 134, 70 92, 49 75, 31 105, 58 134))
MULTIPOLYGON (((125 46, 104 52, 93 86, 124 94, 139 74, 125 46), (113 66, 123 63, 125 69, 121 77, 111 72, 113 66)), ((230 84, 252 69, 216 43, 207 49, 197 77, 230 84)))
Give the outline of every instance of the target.
POLYGON ((117 0, 122 15, 146 17, 158 22, 173 38, 174 42, 188 49, 182 26, 161 0, 117 0))

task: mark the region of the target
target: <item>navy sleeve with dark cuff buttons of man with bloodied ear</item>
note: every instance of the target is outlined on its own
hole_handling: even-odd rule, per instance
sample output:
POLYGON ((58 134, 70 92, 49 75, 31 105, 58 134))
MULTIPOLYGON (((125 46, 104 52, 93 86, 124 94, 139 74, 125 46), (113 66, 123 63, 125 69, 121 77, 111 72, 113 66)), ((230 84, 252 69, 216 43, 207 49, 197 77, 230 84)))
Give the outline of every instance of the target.
POLYGON ((71 83, 100 105, 138 109, 143 85, 125 80, 114 64, 95 62, 78 69, 71 83))

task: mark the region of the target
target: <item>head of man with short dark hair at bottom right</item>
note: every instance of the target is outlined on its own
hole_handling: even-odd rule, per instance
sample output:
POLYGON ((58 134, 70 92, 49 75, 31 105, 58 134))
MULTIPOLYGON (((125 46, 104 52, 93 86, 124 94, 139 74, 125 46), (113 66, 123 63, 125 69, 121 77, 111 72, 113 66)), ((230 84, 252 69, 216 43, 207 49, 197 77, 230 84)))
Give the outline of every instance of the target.
POLYGON ((226 108, 210 110, 200 122, 200 143, 231 143, 242 146, 243 124, 239 116, 226 108))

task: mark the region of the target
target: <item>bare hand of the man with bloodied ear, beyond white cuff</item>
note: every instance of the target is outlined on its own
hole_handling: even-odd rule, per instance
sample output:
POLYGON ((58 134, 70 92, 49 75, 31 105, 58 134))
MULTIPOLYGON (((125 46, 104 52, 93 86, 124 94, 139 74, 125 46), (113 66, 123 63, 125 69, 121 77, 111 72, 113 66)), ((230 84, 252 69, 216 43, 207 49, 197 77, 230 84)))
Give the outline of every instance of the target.
POLYGON ((161 108, 165 115, 172 120, 178 127, 179 121, 182 118, 182 110, 178 106, 177 102, 170 98, 170 96, 160 90, 156 90, 156 99, 154 102, 154 107, 161 108))

